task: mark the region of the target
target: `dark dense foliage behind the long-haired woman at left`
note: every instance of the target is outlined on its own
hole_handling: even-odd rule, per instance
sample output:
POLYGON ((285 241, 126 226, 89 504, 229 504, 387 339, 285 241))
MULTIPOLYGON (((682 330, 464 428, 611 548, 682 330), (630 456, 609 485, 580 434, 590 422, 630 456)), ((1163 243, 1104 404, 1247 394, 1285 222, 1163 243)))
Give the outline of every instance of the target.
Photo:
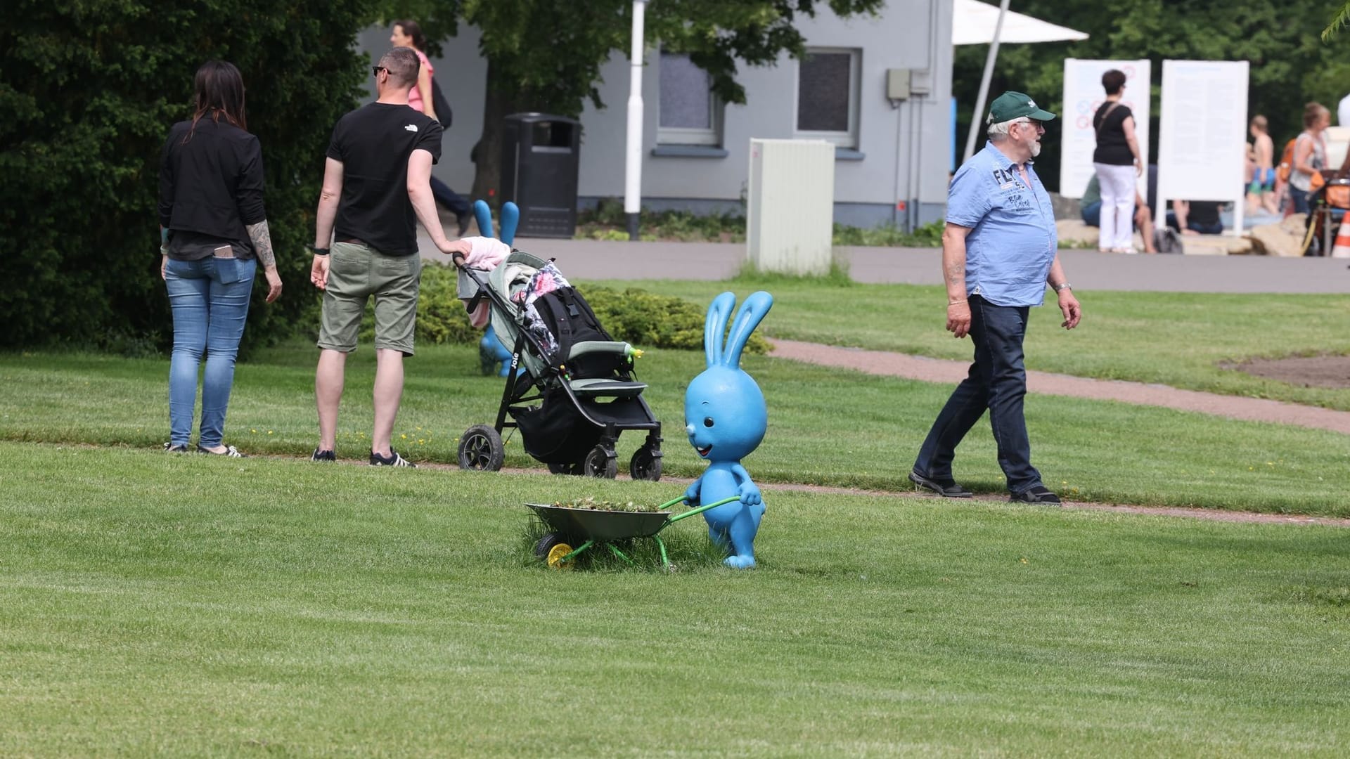
POLYGON ((363 3, 12 0, 0 23, 0 346, 103 344, 171 332, 159 280, 158 163, 192 113, 192 80, 231 61, 263 150, 286 290, 254 292, 246 339, 313 304, 306 244, 336 119, 366 76, 363 3))

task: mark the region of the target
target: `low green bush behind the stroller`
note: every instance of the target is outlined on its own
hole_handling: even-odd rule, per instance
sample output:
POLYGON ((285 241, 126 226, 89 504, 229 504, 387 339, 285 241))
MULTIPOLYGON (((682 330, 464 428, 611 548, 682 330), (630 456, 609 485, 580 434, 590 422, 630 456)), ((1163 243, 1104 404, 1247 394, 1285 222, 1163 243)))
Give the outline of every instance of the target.
MULTIPOLYGON (((477 343, 482 338, 482 330, 468 324, 464 304, 455 297, 458 281, 452 266, 437 262, 423 266, 421 292, 417 297, 420 344, 477 343)), ((601 286, 578 289, 616 340, 639 348, 703 350, 706 309, 697 304, 637 288, 622 292, 601 286)), ((362 338, 370 339, 374 334, 374 316, 367 308, 362 338)), ((767 354, 768 348, 768 340, 751 335, 745 352, 767 354)))

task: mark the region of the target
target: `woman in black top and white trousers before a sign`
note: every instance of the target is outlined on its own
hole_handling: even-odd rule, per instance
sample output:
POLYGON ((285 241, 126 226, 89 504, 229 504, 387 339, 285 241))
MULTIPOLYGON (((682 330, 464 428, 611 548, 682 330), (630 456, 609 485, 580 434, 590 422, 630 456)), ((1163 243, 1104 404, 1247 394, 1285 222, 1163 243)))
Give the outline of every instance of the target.
POLYGON ((1134 138, 1134 115, 1120 103, 1125 73, 1116 69, 1102 74, 1106 101, 1092 116, 1096 150, 1092 166, 1102 188, 1102 253, 1134 253, 1134 181, 1143 174, 1139 143, 1134 138))

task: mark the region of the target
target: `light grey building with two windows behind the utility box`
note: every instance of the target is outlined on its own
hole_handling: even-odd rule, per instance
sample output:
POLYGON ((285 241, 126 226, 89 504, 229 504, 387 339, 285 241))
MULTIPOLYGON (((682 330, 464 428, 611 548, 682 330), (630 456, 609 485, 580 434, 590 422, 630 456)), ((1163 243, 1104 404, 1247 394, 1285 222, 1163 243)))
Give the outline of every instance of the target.
MULTIPOLYGON (((798 27, 810 55, 742 66, 745 105, 709 93, 684 55, 649 49, 643 78, 643 205, 699 212, 740 209, 751 138, 825 139, 836 146, 834 219, 872 227, 942 217, 952 161, 952 3, 891 0, 876 18, 824 9, 798 27)), ((389 30, 360 35, 378 55, 389 30)), ((473 182, 468 151, 482 128, 486 62, 478 30, 460 27, 433 59, 455 119, 436 176, 460 192, 473 182)), ((601 99, 582 113, 583 205, 624 194, 628 59, 602 68, 601 99)))

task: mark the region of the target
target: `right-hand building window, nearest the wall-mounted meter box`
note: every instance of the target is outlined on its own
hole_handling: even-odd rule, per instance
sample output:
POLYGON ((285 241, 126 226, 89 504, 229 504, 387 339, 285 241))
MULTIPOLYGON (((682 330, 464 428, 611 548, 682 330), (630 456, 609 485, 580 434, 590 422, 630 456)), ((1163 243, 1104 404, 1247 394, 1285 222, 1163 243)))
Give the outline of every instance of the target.
POLYGON ((857 72, 861 51, 809 49, 796 65, 795 136, 857 147, 857 72))

